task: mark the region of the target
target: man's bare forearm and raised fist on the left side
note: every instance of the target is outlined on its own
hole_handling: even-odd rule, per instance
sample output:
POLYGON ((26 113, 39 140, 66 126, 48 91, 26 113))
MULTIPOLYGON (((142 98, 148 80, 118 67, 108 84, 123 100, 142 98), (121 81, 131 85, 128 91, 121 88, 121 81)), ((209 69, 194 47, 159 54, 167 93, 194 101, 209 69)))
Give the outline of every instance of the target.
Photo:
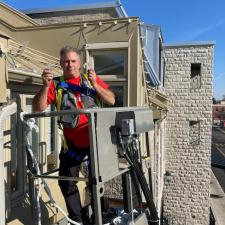
POLYGON ((43 86, 40 91, 34 96, 32 101, 32 107, 34 112, 42 112, 48 107, 48 89, 52 79, 52 71, 50 69, 44 69, 42 73, 43 86))

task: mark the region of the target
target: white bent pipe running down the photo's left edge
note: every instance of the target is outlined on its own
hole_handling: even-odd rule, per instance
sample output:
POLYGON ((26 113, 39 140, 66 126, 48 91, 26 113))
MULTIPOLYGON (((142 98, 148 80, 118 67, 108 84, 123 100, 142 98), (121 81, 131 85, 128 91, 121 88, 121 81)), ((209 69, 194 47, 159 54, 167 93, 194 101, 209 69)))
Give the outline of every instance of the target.
POLYGON ((14 102, 0 111, 0 224, 5 223, 5 179, 4 179, 4 122, 7 117, 16 113, 17 104, 14 102))

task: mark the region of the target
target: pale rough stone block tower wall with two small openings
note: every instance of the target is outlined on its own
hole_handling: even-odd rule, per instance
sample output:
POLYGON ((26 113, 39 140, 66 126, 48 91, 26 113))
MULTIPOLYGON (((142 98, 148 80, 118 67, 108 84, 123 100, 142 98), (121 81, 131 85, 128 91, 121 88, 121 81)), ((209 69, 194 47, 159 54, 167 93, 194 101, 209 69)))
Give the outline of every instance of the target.
POLYGON ((165 47, 165 152, 171 176, 165 179, 163 215, 173 225, 209 224, 213 48, 165 47))

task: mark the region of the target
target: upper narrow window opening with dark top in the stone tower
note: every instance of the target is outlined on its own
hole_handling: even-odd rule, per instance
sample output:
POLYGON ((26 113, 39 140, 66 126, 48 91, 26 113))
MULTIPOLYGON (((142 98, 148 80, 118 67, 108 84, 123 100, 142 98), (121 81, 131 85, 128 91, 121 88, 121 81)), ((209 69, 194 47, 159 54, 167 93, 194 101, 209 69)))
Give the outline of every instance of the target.
POLYGON ((191 64, 191 84, 192 89, 197 89, 201 87, 201 64, 192 63, 191 64))

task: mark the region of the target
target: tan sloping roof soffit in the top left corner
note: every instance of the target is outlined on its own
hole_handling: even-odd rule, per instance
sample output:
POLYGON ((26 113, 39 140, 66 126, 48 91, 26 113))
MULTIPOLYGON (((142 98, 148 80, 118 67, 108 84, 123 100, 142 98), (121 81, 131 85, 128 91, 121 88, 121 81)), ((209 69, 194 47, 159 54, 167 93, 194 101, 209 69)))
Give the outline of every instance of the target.
POLYGON ((38 25, 36 21, 17 11, 14 8, 0 2, 0 22, 13 27, 26 27, 38 25))

